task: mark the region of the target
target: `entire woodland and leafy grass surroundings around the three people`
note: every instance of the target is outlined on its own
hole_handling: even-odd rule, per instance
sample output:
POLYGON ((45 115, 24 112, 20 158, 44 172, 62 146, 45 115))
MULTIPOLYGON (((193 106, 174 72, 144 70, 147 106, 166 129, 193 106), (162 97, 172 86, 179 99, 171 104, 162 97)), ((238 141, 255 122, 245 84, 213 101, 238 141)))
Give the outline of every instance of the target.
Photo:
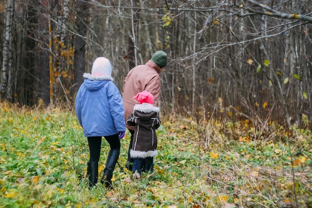
POLYGON ((0 0, 0 207, 311 208, 311 29, 312 0, 0 0), (82 75, 156 50, 155 173, 89 190, 82 75))

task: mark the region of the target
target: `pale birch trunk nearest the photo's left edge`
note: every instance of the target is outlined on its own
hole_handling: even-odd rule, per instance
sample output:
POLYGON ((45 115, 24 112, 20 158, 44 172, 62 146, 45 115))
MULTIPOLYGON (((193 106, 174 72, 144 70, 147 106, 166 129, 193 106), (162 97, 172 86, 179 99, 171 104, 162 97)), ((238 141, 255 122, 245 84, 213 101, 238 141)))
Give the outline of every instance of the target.
POLYGON ((8 67, 9 59, 10 59, 10 51, 11 51, 11 41, 12 41, 12 21, 13 21, 13 10, 14 10, 14 0, 7 0, 6 7, 6 18, 5 18, 5 36, 4 36, 4 44, 3 44, 3 61, 2 61, 2 76, 1 76, 1 99, 6 99, 9 102, 12 101, 12 92, 8 91, 8 86, 11 84, 12 80, 8 80, 10 77, 10 68, 8 67))

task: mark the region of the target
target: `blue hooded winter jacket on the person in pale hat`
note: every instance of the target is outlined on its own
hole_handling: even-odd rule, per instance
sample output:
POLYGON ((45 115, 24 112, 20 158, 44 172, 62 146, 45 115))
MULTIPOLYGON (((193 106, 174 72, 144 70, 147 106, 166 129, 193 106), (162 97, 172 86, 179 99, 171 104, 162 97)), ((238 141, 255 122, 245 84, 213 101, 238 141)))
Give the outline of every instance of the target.
POLYGON ((126 131, 123 100, 111 80, 85 79, 77 92, 75 107, 85 137, 126 131))

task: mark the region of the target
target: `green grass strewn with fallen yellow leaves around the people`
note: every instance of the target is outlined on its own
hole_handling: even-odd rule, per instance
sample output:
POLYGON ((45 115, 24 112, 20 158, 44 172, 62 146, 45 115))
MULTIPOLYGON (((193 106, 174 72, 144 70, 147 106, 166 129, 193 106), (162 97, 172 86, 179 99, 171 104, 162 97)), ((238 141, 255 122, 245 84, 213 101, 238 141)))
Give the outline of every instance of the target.
MULTIPOLYGON (((206 146, 192 121, 162 119, 155 172, 134 181, 116 166, 108 191, 100 183, 86 186, 88 142, 72 111, 0 105, 0 207, 275 208, 281 200, 284 207, 296 207, 296 201, 308 207, 309 130, 290 137, 292 145, 282 130, 265 142, 248 139, 239 128, 241 136, 232 138, 215 121, 206 146)), ((123 167, 129 138, 127 132, 121 140, 123 167)), ((103 139, 99 177, 108 151, 103 139)))

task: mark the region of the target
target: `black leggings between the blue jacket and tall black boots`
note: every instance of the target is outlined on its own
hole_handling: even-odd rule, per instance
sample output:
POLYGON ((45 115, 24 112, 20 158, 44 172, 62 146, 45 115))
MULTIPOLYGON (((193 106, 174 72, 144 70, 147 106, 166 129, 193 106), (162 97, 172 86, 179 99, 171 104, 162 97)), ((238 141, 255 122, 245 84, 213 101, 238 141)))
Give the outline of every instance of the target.
MULTIPOLYGON (((111 149, 116 149, 120 151, 120 140, 118 139, 118 134, 111 136, 104 136, 106 141, 109 143, 111 149)), ((89 162, 99 162, 101 153, 101 142, 102 136, 88 137, 90 159, 89 162)))

